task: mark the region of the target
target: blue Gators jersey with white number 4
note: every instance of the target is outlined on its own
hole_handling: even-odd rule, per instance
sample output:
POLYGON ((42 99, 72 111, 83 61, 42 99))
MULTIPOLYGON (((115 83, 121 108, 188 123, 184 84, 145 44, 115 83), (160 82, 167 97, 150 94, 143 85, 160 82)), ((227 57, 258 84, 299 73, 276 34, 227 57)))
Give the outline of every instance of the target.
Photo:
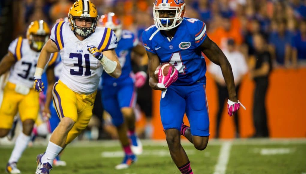
POLYGON ((207 36, 205 23, 184 18, 172 40, 163 35, 162 30, 149 40, 156 30, 155 25, 147 28, 142 34, 142 41, 147 51, 158 55, 161 63, 170 62, 178 70, 177 81, 172 85, 205 84, 206 62, 202 50, 198 48, 207 36))

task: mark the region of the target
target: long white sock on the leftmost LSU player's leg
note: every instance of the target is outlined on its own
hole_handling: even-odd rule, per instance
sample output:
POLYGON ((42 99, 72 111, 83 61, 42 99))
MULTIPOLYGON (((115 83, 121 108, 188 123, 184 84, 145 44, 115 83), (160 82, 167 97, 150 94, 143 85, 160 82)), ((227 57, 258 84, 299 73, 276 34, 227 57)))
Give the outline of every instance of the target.
POLYGON ((13 149, 11 157, 9 158, 9 163, 18 162, 24 149, 27 148, 30 139, 31 137, 28 135, 25 135, 23 132, 21 132, 18 135, 16 142, 15 142, 15 147, 13 149))

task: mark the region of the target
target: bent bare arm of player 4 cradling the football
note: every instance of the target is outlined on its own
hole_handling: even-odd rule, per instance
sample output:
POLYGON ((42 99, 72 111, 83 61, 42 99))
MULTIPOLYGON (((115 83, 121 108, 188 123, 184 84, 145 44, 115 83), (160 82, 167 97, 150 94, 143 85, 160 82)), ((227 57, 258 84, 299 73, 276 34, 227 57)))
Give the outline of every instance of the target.
POLYGON ((149 51, 147 51, 147 55, 149 57, 148 61, 148 68, 149 68, 149 85, 151 86, 152 89, 155 90, 165 90, 164 88, 159 88, 157 86, 158 84, 158 79, 155 77, 154 71, 156 70, 157 66, 159 66, 159 57, 156 54, 153 54, 149 51))

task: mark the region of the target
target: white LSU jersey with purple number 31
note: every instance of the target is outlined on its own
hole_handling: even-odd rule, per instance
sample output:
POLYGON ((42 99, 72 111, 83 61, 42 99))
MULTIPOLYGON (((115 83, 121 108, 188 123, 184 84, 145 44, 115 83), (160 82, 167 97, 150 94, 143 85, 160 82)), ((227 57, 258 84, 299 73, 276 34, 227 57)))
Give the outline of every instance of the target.
POLYGON ((76 93, 95 92, 103 67, 87 49, 95 46, 102 52, 116 48, 114 32, 110 28, 97 27, 94 33, 81 41, 71 31, 69 22, 61 21, 52 28, 50 39, 57 45, 63 62, 59 80, 76 93))

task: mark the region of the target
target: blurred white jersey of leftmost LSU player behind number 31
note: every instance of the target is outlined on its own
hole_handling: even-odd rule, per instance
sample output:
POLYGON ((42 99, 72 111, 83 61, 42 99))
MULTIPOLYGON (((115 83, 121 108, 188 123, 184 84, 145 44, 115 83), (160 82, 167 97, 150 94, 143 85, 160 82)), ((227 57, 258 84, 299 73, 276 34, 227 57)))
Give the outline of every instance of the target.
MULTIPOLYGON (((8 51, 14 55, 16 60, 10 70, 9 82, 32 88, 40 52, 32 50, 28 39, 23 39, 22 37, 13 40, 9 45, 8 51)), ((48 66, 55 62, 57 55, 51 55, 48 66)))

